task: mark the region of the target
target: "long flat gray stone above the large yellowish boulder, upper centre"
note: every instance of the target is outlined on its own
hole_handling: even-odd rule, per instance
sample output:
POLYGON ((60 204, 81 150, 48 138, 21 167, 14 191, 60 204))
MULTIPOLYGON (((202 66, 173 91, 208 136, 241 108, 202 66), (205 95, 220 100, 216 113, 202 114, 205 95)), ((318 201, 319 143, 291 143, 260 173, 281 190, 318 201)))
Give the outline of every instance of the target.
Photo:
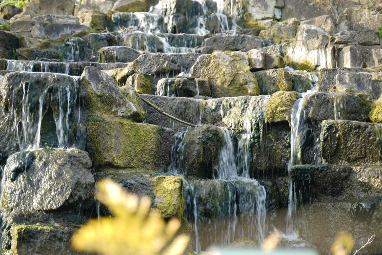
POLYGON ((204 45, 216 50, 249 51, 260 49, 262 40, 257 36, 213 36, 204 40, 204 45))

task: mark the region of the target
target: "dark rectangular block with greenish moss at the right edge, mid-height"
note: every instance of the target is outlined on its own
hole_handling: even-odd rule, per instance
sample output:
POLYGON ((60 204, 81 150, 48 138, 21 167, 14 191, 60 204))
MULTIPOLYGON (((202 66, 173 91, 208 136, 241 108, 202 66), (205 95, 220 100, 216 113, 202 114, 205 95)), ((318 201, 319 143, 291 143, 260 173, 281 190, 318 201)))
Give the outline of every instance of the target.
POLYGON ((381 124, 346 120, 323 121, 322 160, 336 165, 380 165, 381 127, 381 124))

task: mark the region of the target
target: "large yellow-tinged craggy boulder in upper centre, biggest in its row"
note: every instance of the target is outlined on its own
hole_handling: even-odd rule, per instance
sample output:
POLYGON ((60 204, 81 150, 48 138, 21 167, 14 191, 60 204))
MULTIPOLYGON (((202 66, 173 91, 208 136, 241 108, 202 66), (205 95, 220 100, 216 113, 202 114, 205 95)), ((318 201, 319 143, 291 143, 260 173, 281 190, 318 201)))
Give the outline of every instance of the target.
POLYGON ((259 85, 250 72, 248 57, 242 52, 221 51, 202 55, 191 69, 196 78, 213 78, 215 84, 229 88, 231 96, 260 95, 259 85))

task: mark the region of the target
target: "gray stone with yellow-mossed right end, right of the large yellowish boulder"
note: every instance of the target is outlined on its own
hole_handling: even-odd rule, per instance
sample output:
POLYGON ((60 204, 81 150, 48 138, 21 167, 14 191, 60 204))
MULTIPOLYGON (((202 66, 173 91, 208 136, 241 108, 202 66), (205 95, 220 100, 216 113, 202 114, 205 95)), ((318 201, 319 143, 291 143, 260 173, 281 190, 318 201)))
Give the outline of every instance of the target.
POLYGON ((262 95, 271 95, 277 91, 292 91, 292 76, 284 68, 255 72, 262 95))

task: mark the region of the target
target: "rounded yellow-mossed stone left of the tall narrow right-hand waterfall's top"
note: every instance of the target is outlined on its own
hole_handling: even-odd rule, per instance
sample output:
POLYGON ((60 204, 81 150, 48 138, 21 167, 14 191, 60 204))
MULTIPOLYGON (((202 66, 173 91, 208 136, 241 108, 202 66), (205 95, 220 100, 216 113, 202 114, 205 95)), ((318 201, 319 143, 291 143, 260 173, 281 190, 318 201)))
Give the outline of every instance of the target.
POLYGON ((289 122, 293 105, 298 98, 299 94, 296 92, 278 91, 271 95, 265 107, 265 121, 268 123, 289 122))

